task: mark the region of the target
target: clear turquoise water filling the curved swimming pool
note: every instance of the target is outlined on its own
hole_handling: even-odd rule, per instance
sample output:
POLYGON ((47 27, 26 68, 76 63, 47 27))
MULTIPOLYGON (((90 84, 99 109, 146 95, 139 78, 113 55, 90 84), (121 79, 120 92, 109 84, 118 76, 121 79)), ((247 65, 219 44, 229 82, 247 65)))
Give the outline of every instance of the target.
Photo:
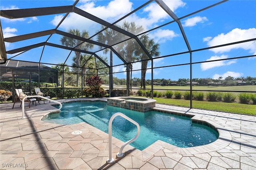
MULTIPOLYGON (((140 135, 130 145, 143 150, 157 140, 177 147, 206 145, 218 139, 218 132, 206 125, 192 123, 190 118, 149 111, 146 113, 108 106, 106 102, 73 102, 62 104, 60 113, 50 114, 42 120, 56 124, 86 122, 108 133, 110 117, 121 112, 140 125, 140 135)), ((112 135, 121 141, 135 137, 137 127, 121 116, 112 123, 112 135)))

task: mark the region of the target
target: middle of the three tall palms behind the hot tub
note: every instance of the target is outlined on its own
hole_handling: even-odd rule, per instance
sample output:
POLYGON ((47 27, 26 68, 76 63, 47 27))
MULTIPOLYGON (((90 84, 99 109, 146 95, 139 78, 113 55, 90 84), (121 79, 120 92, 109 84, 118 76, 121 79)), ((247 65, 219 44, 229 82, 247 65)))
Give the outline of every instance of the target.
MULTIPOLYGON (((121 28, 130 33, 133 33, 134 35, 138 35, 144 30, 142 25, 136 25, 135 22, 129 23, 126 21, 124 21, 121 28)), ((129 75, 127 76, 127 85, 130 85, 130 88, 132 88, 132 62, 138 59, 138 57, 134 55, 137 46, 138 43, 136 40, 130 39, 122 43, 122 49, 120 50, 120 53, 124 56, 124 59, 128 63, 126 66, 126 72, 129 75)))

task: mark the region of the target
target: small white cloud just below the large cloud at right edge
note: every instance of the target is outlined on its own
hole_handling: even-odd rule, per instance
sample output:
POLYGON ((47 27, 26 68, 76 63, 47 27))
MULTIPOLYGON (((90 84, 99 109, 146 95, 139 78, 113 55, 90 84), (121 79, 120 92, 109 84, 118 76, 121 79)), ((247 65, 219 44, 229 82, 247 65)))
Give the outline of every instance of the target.
MULTIPOLYGON (((227 55, 221 55, 221 56, 212 56, 210 57, 210 59, 207 59, 206 61, 213 61, 213 60, 220 60, 220 59, 227 59, 228 56, 227 55)), ((230 64, 233 64, 233 63, 236 63, 235 60, 232 60, 232 61, 225 61, 225 60, 222 60, 222 61, 213 61, 213 62, 207 62, 207 63, 201 63, 201 69, 203 71, 205 70, 208 70, 210 68, 214 68, 214 67, 219 67, 219 66, 227 66, 227 65, 230 65, 230 64)))

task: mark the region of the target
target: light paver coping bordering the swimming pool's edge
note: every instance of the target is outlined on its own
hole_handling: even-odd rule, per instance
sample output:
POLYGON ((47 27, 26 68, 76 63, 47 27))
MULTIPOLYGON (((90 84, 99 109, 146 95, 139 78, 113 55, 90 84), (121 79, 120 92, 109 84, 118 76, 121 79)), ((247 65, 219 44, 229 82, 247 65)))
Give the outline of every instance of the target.
MULTIPOLYGON (((86 102, 86 101, 107 102, 104 99, 84 99, 84 100, 67 100, 67 101, 61 102, 61 103, 86 102)), ((55 105, 55 104, 52 104, 52 105, 55 105)), ((52 107, 54 107, 54 106, 52 106, 52 107)), ((161 107, 154 107, 152 110, 158 111, 160 113, 168 113, 168 114, 173 113, 173 115, 182 115, 182 116, 190 117, 191 120, 194 121, 194 123, 196 122, 198 124, 207 123, 208 125, 211 125, 216 131, 218 131, 219 137, 218 137, 218 139, 216 139, 216 141, 214 141, 212 143, 202 145, 202 146, 196 146, 196 147, 180 148, 180 147, 171 145, 169 143, 166 143, 164 141, 158 140, 155 143, 148 146, 147 148, 145 148, 144 150, 138 150, 138 149, 132 147, 131 145, 127 145, 124 148, 123 152, 127 152, 128 154, 131 154, 132 156, 135 156, 142 161, 147 161, 154 154, 156 154, 159 150, 161 150, 163 148, 169 149, 170 151, 176 152, 178 154, 193 155, 193 154, 202 154, 202 153, 213 152, 216 150, 224 149, 232 141, 232 136, 226 128, 224 128, 223 126, 221 126, 213 121, 210 121, 210 120, 204 118, 203 116, 192 114, 192 113, 189 113, 188 111, 172 111, 170 109, 161 108, 161 107), (130 152, 129 150, 132 150, 132 152, 130 152)), ((48 114, 49 114, 49 112, 44 113, 40 120, 42 121, 42 118, 48 114)), ((38 116, 36 116, 36 117, 38 117, 38 116)), ((38 123, 38 124, 45 125, 45 123, 47 123, 47 122, 42 121, 42 124, 41 123, 38 123)), ((85 123, 85 122, 81 122, 81 123, 77 123, 77 124, 81 125, 83 123, 85 123)), ((59 124, 55 124, 55 123, 49 123, 49 124, 59 125, 59 124)), ((85 124, 89 125, 88 123, 85 123, 85 124)), ((66 126, 68 126, 68 125, 66 125, 66 126)), ((90 125, 90 126, 92 126, 92 125, 90 125)), ((92 126, 92 127, 94 127, 94 126, 92 126)), ((94 127, 94 128, 95 128, 95 130, 97 129, 96 127, 94 127)), ((101 133, 105 133, 105 132, 101 131, 100 129, 97 129, 97 130, 100 131, 101 133)), ((108 133, 105 133, 104 137, 106 137, 106 135, 108 135, 108 133)), ((108 140, 108 138, 106 140, 108 140)), ((112 137, 112 141, 115 141, 113 144, 116 145, 117 147, 122 147, 122 145, 124 144, 123 141, 116 139, 115 137, 112 137)))

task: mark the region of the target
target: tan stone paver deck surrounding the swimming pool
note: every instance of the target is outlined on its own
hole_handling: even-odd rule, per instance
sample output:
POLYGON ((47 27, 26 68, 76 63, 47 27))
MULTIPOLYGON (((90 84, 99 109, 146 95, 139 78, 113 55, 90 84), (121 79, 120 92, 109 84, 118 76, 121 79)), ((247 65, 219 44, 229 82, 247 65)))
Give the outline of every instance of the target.
MULTIPOLYGON (((57 100, 77 101, 86 98, 57 100)), ((97 99, 93 99, 97 100, 97 99)), ((106 99, 100 99, 106 100, 106 99)), ((26 106, 26 105, 25 105, 26 106)), ((26 107, 26 117, 35 111, 51 109, 47 102, 26 107)), ((256 116, 189 109, 156 104, 155 109, 195 115, 192 119, 207 121, 220 132, 214 145, 178 148, 162 141, 140 151, 131 146, 124 148, 123 158, 114 158, 107 164, 108 134, 88 125, 57 125, 41 121, 46 113, 22 119, 21 107, 12 109, 12 103, 0 104, 0 169, 24 164, 26 169, 256 169, 256 116), (72 135, 74 131, 82 131, 72 135)), ((113 140, 113 154, 123 142, 113 140)))

